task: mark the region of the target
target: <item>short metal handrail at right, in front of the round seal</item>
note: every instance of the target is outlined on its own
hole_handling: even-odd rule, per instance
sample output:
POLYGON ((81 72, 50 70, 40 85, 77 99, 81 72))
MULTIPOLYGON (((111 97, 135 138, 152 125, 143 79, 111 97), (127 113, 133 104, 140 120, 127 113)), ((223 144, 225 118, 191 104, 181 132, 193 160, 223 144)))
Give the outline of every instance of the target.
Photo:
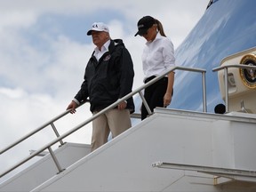
POLYGON ((218 68, 213 68, 212 71, 220 71, 224 69, 224 84, 225 84, 225 105, 226 105, 226 113, 229 112, 229 101, 228 101, 228 68, 254 68, 255 66, 248 66, 248 65, 241 65, 241 64, 233 64, 233 65, 226 65, 226 66, 220 66, 218 68))

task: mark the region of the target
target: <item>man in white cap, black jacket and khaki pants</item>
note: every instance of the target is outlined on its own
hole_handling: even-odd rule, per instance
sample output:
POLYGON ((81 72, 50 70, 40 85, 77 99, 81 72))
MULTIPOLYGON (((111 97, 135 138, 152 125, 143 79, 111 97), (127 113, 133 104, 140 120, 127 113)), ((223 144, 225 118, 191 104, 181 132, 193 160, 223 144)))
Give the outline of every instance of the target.
MULTIPOLYGON (((100 112, 112 103, 132 92, 133 64, 128 50, 121 39, 112 40, 108 26, 102 22, 92 24, 87 32, 96 45, 92 57, 87 63, 84 82, 74 100, 68 105, 71 113, 76 107, 90 99, 92 114, 100 112)), ((92 151, 108 141, 109 132, 112 137, 131 127, 130 113, 134 111, 133 99, 121 101, 116 108, 108 110, 104 115, 92 121, 92 151)))

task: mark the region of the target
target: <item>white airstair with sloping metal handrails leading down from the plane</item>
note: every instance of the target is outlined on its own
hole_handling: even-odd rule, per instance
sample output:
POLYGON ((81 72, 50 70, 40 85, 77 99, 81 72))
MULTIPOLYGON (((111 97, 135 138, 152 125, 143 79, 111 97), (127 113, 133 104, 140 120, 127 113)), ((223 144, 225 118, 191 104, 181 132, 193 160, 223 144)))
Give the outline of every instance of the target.
POLYGON ((202 74, 203 112, 156 108, 152 113, 141 91, 162 77, 157 76, 101 111, 139 94, 151 116, 90 153, 88 145, 63 140, 100 113, 60 135, 54 122, 68 116, 65 111, 0 151, 12 150, 46 126, 52 126, 57 136, 1 173, 4 177, 43 156, 4 180, 0 191, 255 191, 256 116, 207 113, 205 70, 178 66, 172 70, 202 74), (52 150, 59 142, 60 147, 52 150))

